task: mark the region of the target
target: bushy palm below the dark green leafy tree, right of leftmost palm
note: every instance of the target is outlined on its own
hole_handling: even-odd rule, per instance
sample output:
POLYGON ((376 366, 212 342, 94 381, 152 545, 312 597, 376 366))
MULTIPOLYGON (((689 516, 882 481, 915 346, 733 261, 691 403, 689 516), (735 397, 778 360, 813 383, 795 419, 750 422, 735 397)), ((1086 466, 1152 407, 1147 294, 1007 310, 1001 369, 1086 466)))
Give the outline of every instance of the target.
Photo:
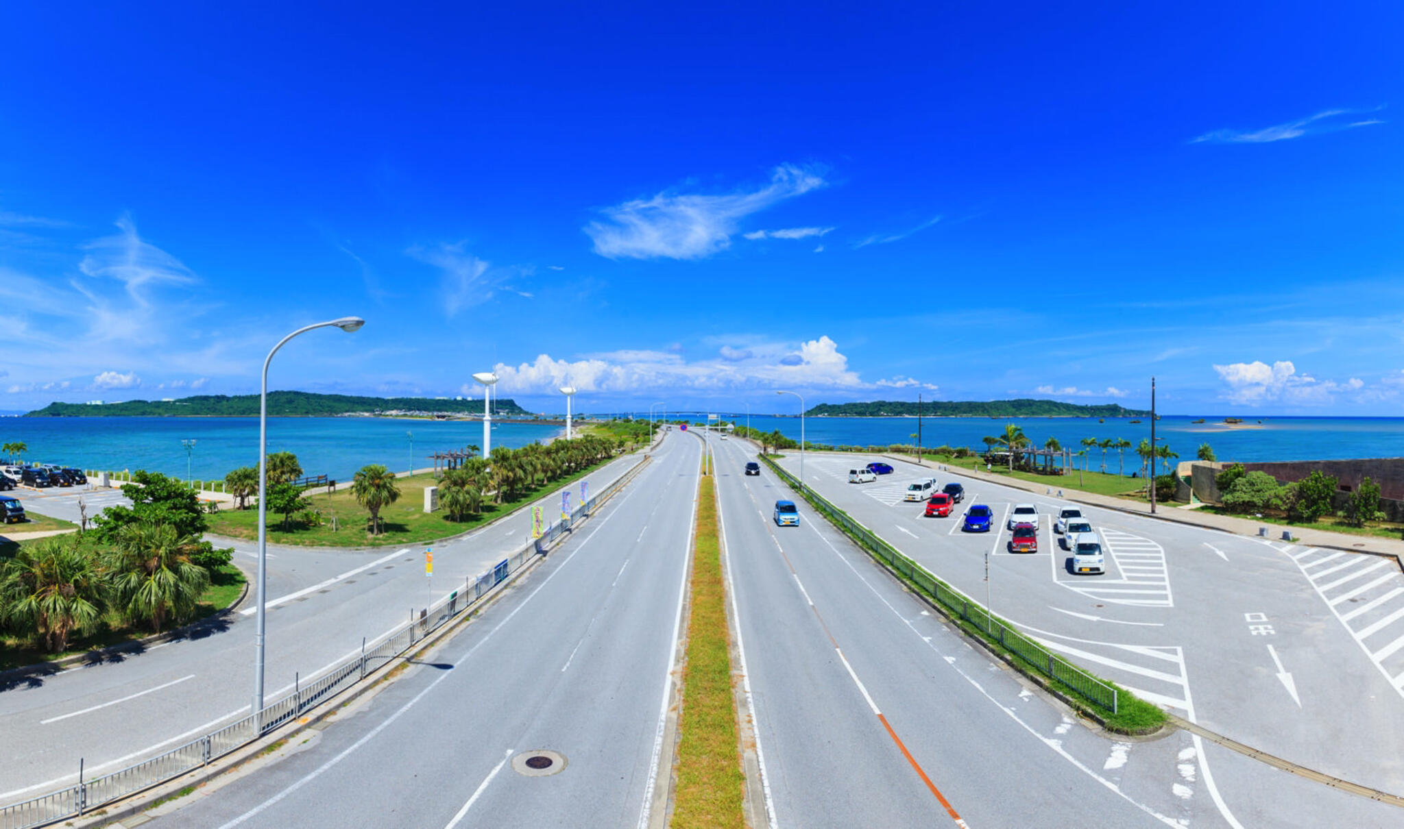
POLYGON ((131 621, 149 621, 153 633, 167 617, 185 619, 209 586, 209 571, 191 561, 198 550, 199 537, 170 525, 126 525, 104 557, 112 603, 131 621))

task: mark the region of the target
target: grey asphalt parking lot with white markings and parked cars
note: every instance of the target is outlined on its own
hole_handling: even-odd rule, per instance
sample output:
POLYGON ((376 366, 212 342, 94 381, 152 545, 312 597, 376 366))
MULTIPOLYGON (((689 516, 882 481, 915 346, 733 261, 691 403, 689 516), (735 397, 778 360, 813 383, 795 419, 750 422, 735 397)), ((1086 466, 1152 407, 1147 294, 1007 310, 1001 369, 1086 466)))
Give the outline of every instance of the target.
MULTIPOLYGON (((797 471, 797 460, 792 453, 781 463, 797 471)), ((1077 577, 1067 565, 1070 554, 1052 532, 1053 511, 1061 501, 938 471, 942 484, 965 484, 962 511, 973 504, 994 509, 994 532, 963 533, 959 511, 952 518, 928 519, 921 515, 924 505, 901 501, 906 484, 932 474, 929 467, 894 463, 897 471, 876 484, 848 484, 848 470, 868 460, 873 459, 809 453, 806 480, 981 602, 988 555, 995 613, 1074 662, 1255 748, 1356 783, 1404 791, 1397 752, 1404 738, 1404 700, 1390 679, 1397 668, 1389 661, 1382 665, 1379 651, 1370 649, 1404 634, 1404 626, 1389 630, 1394 624, 1390 617, 1404 607, 1404 602, 1391 605, 1404 595, 1393 593, 1404 585, 1397 567, 1391 571, 1380 567, 1379 558, 1283 550, 1254 539, 1084 508, 1109 551, 1109 567, 1105 577, 1077 577), (1036 504, 1042 513, 1038 554, 1011 554, 1007 547, 1004 519, 1022 502, 1036 504), (1332 567, 1341 569, 1313 578, 1332 567), (1334 584, 1341 578, 1348 581, 1334 584), (1360 592, 1341 599, 1348 589, 1360 592), (1359 614, 1346 624, 1339 616, 1351 613, 1342 612, 1352 606, 1351 599, 1360 599, 1353 603, 1359 614), (1372 634, 1380 637, 1358 647, 1369 626, 1377 626, 1372 634)), ((1150 745, 1129 743, 1126 767, 1154 753, 1150 745)), ((1272 825, 1320 825, 1339 822, 1342 815, 1362 826, 1404 821, 1397 809, 1382 812, 1379 804, 1362 798, 1341 802, 1338 793, 1314 784, 1302 788, 1299 779, 1286 774, 1262 777, 1251 763, 1238 762, 1243 757, 1199 739, 1189 741, 1186 750, 1199 757, 1191 766, 1192 779, 1171 777, 1163 790, 1192 808, 1210 801, 1217 819, 1228 825, 1255 825, 1264 816, 1276 821, 1272 825), (1220 755, 1223 759, 1209 762, 1220 755)))

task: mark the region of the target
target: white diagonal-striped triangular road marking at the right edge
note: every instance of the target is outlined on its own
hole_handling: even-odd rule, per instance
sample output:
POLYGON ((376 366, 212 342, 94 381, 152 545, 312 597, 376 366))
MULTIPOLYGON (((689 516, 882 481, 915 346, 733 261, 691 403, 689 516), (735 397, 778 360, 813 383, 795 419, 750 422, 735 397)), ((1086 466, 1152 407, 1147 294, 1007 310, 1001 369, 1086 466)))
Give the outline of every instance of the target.
POLYGON ((1404 574, 1380 555, 1269 544, 1293 562, 1370 662, 1404 696, 1404 574))

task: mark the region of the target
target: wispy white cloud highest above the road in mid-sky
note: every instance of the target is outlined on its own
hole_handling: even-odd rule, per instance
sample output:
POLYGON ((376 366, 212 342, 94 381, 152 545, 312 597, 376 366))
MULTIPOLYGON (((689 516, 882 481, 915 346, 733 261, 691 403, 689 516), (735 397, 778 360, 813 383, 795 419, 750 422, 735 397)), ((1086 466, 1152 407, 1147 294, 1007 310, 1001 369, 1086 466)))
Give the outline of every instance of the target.
POLYGON ((724 195, 664 191, 601 210, 585 224, 594 251, 611 260, 698 260, 731 244, 737 222, 771 205, 824 187, 817 173, 782 164, 765 187, 724 195))

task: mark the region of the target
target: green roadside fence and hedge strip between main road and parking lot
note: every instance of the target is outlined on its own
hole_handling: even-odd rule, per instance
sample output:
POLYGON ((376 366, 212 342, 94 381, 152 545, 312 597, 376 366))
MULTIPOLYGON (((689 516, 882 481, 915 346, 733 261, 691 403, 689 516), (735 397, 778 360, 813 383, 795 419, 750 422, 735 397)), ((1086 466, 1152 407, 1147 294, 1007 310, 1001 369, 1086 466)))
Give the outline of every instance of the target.
POLYGON ((1016 628, 1009 627, 997 616, 993 616, 979 602, 970 599, 959 591, 953 591, 951 585, 942 582, 929 569, 901 554, 896 547, 878 537, 876 533, 854 520, 847 512, 834 506, 827 498, 814 492, 810 487, 802 488, 795 476, 781 469, 781 466, 768 456, 762 454, 761 460, 764 460, 765 464, 781 477, 781 480, 789 484, 792 490, 807 498, 809 502, 824 515, 824 518, 848 533, 848 536, 856 540, 861 546, 886 561, 893 569, 915 582, 922 591, 949 609, 953 614, 986 631, 986 635, 1000 642, 1002 648, 1016 655, 1038 673, 1053 679, 1064 687, 1071 689, 1082 699, 1095 703, 1113 714, 1118 713, 1120 694, 1115 687, 1077 665, 1073 665, 1063 656, 1047 651, 1043 645, 1024 635, 1016 628))

